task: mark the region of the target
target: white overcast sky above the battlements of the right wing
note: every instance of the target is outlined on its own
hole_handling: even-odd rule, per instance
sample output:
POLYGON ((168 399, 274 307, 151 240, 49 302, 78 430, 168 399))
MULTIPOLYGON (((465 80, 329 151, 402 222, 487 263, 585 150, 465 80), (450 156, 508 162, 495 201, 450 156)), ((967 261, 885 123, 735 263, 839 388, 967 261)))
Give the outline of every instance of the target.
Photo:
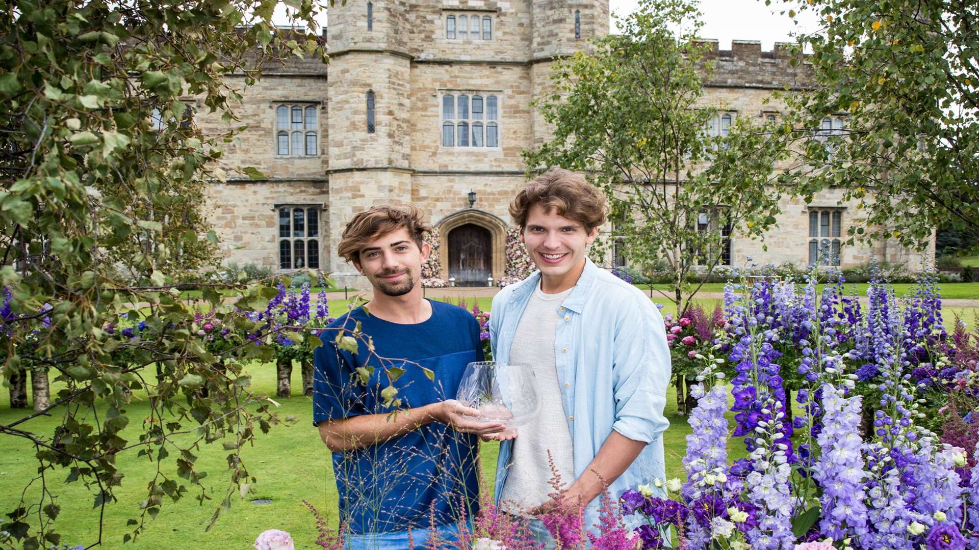
MULTIPOLYGON (((637 6, 638 0, 609 0, 610 11, 620 16, 637 6)), ((764 0, 701 0, 704 26, 700 34, 704 38, 717 38, 722 50, 730 49, 731 40, 761 40, 762 50, 769 51, 775 42, 794 41, 793 32, 816 30, 817 20, 812 12, 799 14, 798 25, 787 15, 778 13, 795 6, 795 2, 782 0, 772 0, 771 6, 766 6, 764 0)), ((612 30, 615 31, 614 27, 612 30)))

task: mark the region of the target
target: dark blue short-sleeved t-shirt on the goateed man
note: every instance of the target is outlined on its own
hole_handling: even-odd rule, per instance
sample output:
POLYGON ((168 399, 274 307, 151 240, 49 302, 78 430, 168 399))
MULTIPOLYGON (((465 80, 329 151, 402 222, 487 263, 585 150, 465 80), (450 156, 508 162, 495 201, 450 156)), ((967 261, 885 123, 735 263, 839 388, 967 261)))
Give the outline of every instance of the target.
MULTIPOLYGON (((323 345, 313 363, 313 424, 363 414, 390 414, 381 391, 388 386, 385 368, 404 369, 394 383, 399 408, 454 399, 466 364, 483 360, 479 324, 461 307, 431 301, 425 322, 402 325, 368 315, 360 307, 323 331, 323 345), (355 323, 363 333, 357 353, 341 350, 340 330, 350 336, 355 323), (374 351, 366 344, 373 340, 374 351), (417 363, 417 365, 412 364, 417 363), (373 367, 366 384, 358 367, 373 367), (382 368, 383 367, 383 368, 382 368), (435 374, 429 380, 425 367, 435 374)), ((479 441, 442 423, 376 445, 333 453, 333 471, 340 493, 340 520, 353 533, 389 532, 454 524, 477 511, 476 467, 479 441)))

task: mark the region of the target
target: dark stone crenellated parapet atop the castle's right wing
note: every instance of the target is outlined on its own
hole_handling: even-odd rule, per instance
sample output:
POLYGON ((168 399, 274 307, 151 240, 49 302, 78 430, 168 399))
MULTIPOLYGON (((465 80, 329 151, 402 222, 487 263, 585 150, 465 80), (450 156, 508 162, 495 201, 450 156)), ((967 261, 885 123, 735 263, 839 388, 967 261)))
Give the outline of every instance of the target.
POLYGON ((706 49, 704 58, 714 63, 714 73, 705 85, 744 88, 782 88, 786 84, 793 89, 808 87, 812 83, 812 69, 807 55, 793 55, 789 42, 775 42, 770 51, 762 51, 759 40, 731 40, 731 49, 719 48, 716 39, 700 39, 706 49), (790 61, 800 61, 793 67, 790 61))

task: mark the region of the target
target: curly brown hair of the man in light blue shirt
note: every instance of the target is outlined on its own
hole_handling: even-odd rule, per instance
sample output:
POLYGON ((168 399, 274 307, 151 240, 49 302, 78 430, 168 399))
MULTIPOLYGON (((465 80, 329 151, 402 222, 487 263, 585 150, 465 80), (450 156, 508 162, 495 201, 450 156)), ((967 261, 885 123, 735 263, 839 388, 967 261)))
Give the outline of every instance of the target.
POLYGON ((520 226, 527 227, 527 213, 539 204, 544 211, 557 210, 558 215, 582 222, 591 231, 605 223, 608 207, 605 195, 588 184, 581 174, 564 168, 551 168, 530 181, 510 203, 510 215, 520 226))

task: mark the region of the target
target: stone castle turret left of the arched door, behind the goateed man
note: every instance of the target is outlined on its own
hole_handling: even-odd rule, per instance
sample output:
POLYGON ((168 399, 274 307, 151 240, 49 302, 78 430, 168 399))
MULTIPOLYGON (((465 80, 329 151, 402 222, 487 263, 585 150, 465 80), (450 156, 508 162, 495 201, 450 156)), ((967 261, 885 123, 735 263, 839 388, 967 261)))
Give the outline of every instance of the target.
POLYGON ((348 0, 329 10, 330 259, 324 268, 340 285, 358 277, 336 252, 352 215, 411 201, 408 13, 406 0, 348 0))

